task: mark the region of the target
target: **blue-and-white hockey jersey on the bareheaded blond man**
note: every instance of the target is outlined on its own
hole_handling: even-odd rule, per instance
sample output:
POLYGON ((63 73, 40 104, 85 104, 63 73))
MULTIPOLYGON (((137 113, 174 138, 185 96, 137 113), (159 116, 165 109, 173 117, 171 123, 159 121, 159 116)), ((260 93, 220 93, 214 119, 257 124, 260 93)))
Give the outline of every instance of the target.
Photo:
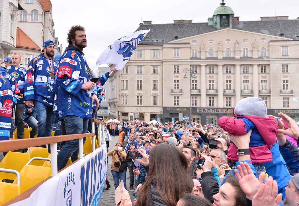
POLYGON ((6 73, 13 76, 15 78, 15 80, 17 81, 19 89, 20 89, 20 96, 19 96, 17 104, 23 104, 24 82, 25 82, 25 76, 26 76, 26 70, 25 70, 24 66, 21 64, 19 67, 16 68, 14 65, 9 65, 6 68, 6 73))

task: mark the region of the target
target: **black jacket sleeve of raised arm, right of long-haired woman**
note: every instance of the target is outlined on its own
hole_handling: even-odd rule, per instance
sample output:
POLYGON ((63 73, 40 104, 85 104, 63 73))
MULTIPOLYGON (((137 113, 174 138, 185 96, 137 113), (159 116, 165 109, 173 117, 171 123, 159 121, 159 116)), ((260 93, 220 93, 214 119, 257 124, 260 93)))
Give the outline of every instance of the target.
POLYGON ((214 203, 213 195, 219 192, 218 182, 212 172, 202 173, 202 192, 204 193, 205 199, 214 203))

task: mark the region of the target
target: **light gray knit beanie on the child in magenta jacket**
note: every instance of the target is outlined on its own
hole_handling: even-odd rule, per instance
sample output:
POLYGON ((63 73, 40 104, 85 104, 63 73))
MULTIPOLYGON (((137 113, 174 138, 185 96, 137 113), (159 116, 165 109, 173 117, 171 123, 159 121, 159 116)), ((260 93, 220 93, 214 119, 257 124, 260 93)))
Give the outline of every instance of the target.
POLYGON ((261 98, 246 97, 237 103, 234 113, 239 116, 251 115, 257 117, 267 117, 267 107, 264 100, 261 98))

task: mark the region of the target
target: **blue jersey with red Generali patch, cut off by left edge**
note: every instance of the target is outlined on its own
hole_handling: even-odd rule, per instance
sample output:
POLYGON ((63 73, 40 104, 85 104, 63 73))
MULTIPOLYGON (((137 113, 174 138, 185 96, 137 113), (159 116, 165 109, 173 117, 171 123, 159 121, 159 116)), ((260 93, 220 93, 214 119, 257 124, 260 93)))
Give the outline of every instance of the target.
POLYGON ((8 80, 0 74, 0 140, 9 140, 13 92, 8 80))

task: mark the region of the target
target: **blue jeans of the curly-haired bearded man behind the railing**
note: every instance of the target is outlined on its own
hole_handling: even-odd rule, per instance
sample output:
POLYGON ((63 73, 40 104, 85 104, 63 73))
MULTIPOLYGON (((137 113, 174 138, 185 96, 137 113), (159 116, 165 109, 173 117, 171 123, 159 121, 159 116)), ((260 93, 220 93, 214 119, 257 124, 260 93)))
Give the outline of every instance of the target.
MULTIPOLYGON (((88 119, 83 119, 74 115, 68 115, 64 118, 65 131, 67 135, 82 134, 87 132, 88 119)), ((84 141, 86 138, 84 138, 84 141)), ((57 156, 58 170, 65 167, 68 159, 72 162, 78 159, 79 139, 66 141, 57 156)))

